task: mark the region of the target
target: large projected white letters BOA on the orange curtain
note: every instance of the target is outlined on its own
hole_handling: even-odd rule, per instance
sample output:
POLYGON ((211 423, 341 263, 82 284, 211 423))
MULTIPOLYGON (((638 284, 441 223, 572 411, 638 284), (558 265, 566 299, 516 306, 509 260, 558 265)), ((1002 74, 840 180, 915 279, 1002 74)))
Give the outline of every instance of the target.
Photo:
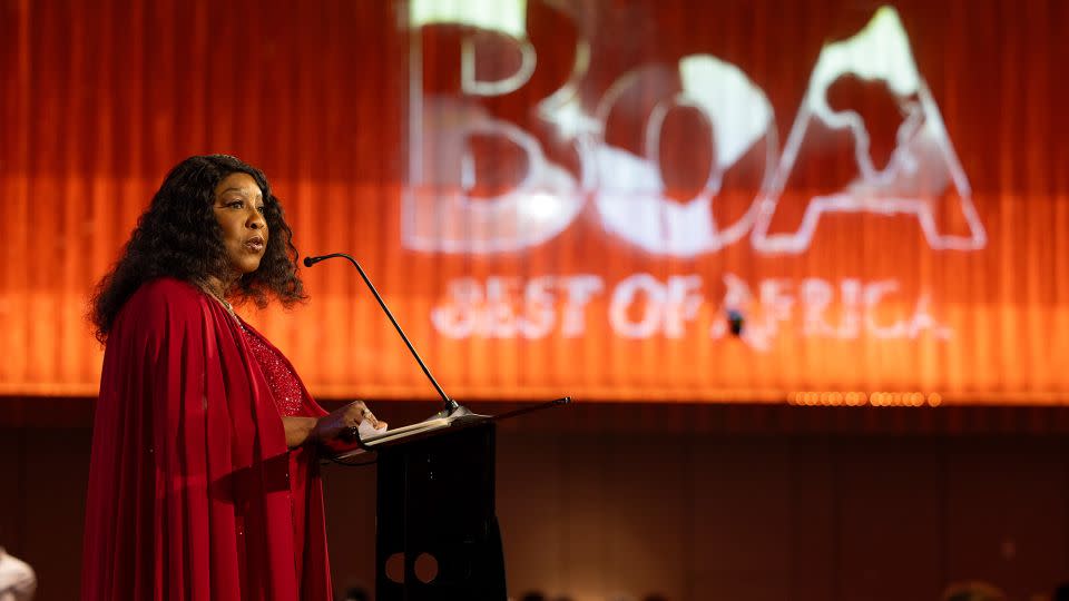
POLYGON ((575 23, 577 41, 570 75, 533 102, 533 121, 516 117, 526 116, 522 106, 500 109, 531 107, 529 96, 510 96, 531 85, 538 63, 524 1, 408 4, 405 247, 530 248, 569 227, 588 200, 607 231, 656 255, 715 253, 747 233, 758 253, 797 254, 832 213, 903 215, 916 219, 933 249, 984 247, 968 178, 894 9, 881 8, 855 36, 822 50, 781 155, 765 92, 709 55, 639 66, 591 99, 583 87, 591 63, 586 21, 570 3, 546 4, 575 23), (430 26, 459 36, 460 81, 452 88, 429 83, 434 73, 424 72, 420 32, 430 26), (901 116, 882 166, 873 158, 872 124, 830 101, 844 79, 877 86, 901 116), (828 140, 852 148, 853 175, 800 195, 811 187, 794 180, 828 140))

